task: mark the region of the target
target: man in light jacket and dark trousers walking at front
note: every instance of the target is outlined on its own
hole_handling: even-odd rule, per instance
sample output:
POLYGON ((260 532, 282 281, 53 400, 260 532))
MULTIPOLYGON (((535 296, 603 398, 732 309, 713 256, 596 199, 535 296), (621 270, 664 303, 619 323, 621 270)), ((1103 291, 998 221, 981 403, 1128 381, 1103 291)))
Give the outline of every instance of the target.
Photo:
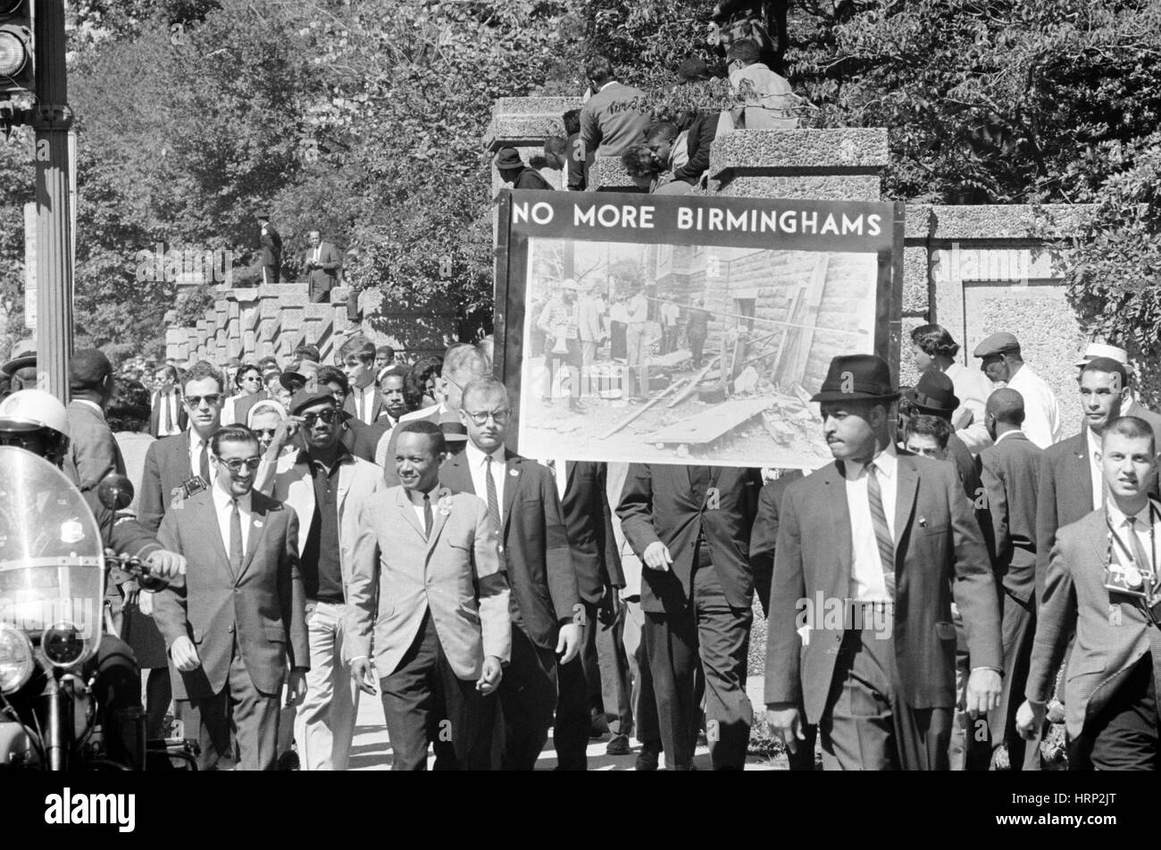
POLYGON ((431 743, 437 766, 488 770, 492 694, 512 655, 496 526, 483 500, 439 485, 444 454, 438 425, 405 425, 396 449, 403 485, 376 492, 359 519, 351 676, 375 692, 374 646, 392 770, 425 770, 431 743), (439 752, 448 733, 452 759, 439 752))

